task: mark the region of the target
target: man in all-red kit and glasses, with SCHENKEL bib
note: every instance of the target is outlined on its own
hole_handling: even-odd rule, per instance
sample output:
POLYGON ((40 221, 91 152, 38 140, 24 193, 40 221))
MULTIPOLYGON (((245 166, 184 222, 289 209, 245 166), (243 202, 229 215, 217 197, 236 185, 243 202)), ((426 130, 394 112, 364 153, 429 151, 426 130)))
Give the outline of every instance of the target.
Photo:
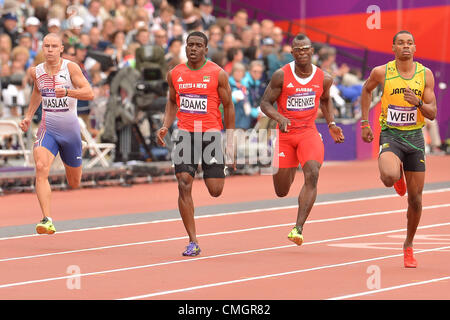
MULTIPOLYGON (((344 142, 341 128, 336 126, 330 87, 333 79, 311 63, 314 49, 311 40, 303 34, 292 41, 294 61, 277 70, 267 86, 261 110, 278 122, 277 154, 274 154, 273 175, 275 192, 279 197, 289 193, 300 164, 304 185, 298 197, 298 215, 289 240, 303 243, 303 225, 317 196, 319 170, 323 163, 324 146, 317 131, 315 119, 320 105, 331 137, 336 143, 344 142), (277 103, 277 109, 273 107, 277 103)), ((277 150, 277 149, 275 149, 277 150)))

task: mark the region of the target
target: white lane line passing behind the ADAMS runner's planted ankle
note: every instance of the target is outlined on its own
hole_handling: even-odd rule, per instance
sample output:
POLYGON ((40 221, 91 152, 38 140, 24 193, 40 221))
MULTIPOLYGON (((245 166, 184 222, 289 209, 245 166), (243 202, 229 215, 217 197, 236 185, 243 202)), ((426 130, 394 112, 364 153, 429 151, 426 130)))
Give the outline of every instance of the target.
MULTIPOLYGON (((422 210, 436 209, 436 208, 445 208, 445 207, 450 207, 450 204, 426 206, 426 207, 423 207, 422 210)), ((321 223, 321 222, 332 222, 332 221, 340 221, 340 220, 372 217, 372 216, 378 216, 378 215, 387 215, 387 214, 400 213, 400 212, 406 212, 406 209, 371 212, 371 213, 366 213, 366 214, 357 214, 357 215, 343 216, 343 217, 337 217, 337 218, 317 219, 317 220, 307 221, 306 223, 307 224, 312 224, 312 223, 321 223)), ((231 231, 220 231, 220 232, 214 232, 214 233, 206 233, 206 234, 198 235, 197 237, 219 236, 219 235, 225 235, 225 234, 233 234, 233 233, 249 232, 249 231, 258 231, 258 230, 280 228, 280 227, 288 227, 288 226, 292 226, 292 223, 275 224, 275 225, 269 225, 269 226, 247 228, 247 229, 237 229, 237 230, 231 230, 231 231)), ((41 258, 41 257, 63 255, 63 254, 80 253, 80 252, 97 251, 97 250, 106 250, 106 249, 129 247, 129 246, 137 246, 137 245, 146 245, 146 244, 159 243, 159 242, 183 240, 183 239, 187 239, 187 238, 188 238, 187 236, 183 236, 183 237, 175 237, 175 238, 166 238, 166 239, 139 241, 139 242, 131 242, 131 243, 122 243, 122 244, 115 244, 115 245, 109 245, 109 246, 100 246, 100 247, 93 247, 93 248, 85 248, 85 249, 77 249, 77 250, 52 252, 52 253, 45 253, 45 254, 36 254, 36 255, 30 255, 30 256, 3 258, 3 259, 0 259, 0 263, 1 262, 7 262, 7 261, 14 261, 14 260, 34 259, 34 258, 41 258)))

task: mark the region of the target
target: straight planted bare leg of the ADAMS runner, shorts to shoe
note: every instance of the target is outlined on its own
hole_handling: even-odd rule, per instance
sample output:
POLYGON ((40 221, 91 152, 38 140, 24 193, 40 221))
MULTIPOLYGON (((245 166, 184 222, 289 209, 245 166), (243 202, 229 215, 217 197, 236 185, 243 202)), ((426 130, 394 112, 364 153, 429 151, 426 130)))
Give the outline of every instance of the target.
POLYGON ((195 230, 194 201, 192 200, 192 184, 194 177, 188 172, 176 173, 178 181, 178 209, 186 228, 190 242, 198 242, 195 230))

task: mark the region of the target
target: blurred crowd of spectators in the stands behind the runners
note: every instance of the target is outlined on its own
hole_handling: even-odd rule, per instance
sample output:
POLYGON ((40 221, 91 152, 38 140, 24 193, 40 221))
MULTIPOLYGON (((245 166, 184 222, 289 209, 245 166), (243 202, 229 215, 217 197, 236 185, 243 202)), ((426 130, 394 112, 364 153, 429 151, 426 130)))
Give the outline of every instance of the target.
MULTIPOLYGON (((49 32, 61 35, 63 58, 76 62, 94 88, 95 99, 79 101, 78 113, 92 135, 100 139, 107 125, 109 76, 122 68, 137 68, 136 52, 152 45, 164 52, 165 79, 168 70, 186 62, 187 35, 203 31, 209 39, 208 59, 229 74, 236 127, 273 125, 264 119, 259 103, 272 74, 293 57, 286 33, 272 20, 249 21, 245 9, 231 18, 216 17, 211 0, 2 1, 0 79, 5 88, 0 118, 22 116, 32 85, 27 70, 43 62, 41 45, 49 32), (99 53, 100 57, 113 57, 114 64, 105 66, 99 53), (16 78, 20 85, 12 80, 16 78)), ((313 63, 335 79, 331 89, 335 116, 358 116, 361 74, 346 64, 338 66, 334 47, 314 43, 314 48, 313 63)), ((34 122, 37 125, 39 121, 40 110, 34 122)))

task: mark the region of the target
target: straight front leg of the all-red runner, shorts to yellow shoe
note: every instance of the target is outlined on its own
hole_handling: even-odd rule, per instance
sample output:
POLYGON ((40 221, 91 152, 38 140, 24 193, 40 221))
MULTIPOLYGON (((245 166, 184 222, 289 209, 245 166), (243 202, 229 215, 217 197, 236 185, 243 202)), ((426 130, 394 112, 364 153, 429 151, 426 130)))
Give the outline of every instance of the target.
POLYGON ((321 163, 315 160, 303 165, 304 184, 298 197, 298 213, 296 226, 301 231, 317 197, 317 181, 321 163))

